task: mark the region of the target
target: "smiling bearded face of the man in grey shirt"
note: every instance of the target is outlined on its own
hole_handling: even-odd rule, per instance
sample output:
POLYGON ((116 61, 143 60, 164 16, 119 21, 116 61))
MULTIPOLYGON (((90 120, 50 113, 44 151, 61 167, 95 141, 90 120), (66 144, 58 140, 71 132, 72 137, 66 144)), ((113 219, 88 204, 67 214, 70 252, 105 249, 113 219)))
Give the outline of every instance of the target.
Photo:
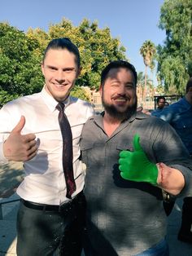
POLYGON ((105 111, 110 116, 122 120, 136 111, 136 86, 128 68, 111 68, 100 93, 105 111))

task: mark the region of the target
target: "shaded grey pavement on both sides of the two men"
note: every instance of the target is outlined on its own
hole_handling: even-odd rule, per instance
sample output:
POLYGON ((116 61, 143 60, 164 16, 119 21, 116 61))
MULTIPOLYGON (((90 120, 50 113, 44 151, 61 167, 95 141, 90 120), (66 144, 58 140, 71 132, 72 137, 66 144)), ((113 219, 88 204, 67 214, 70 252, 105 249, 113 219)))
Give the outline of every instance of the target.
MULTIPOLYGON (((15 189, 24 177, 21 163, 11 162, 0 166, 0 256, 16 256, 16 214, 20 204, 20 197, 15 189), (1 218, 2 217, 2 218, 1 218)), ((182 200, 177 200, 172 214, 168 217, 168 244, 170 256, 191 256, 192 245, 177 241, 177 232, 181 225, 182 200)), ((43 255, 42 255, 43 256, 43 255)), ((82 255, 83 256, 83 255, 82 255)), ((108 255, 107 255, 108 256, 108 255)), ((110 256, 110 255, 109 255, 110 256)))

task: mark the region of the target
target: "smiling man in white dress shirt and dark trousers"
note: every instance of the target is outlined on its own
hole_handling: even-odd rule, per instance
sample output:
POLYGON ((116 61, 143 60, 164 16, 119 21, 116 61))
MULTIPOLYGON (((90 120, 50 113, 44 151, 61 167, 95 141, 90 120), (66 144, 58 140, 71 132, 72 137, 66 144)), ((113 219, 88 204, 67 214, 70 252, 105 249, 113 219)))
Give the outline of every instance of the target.
POLYGON ((18 256, 48 256, 55 251, 63 256, 80 256, 85 170, 79 141, 85 121, 94 112, 90 104, 70 96, 81 66, 79 51, 68 38, 50 41, 41 71, 45 77, 41 92, 15 99, 0 110, 0 162, 24 161, 26 174, 17 188, 21 201, 16 252, 18 256), (72 130, 73 164, 67 166, 75 180, 72 195, 66 192, 63 173, 66 150, 58 110, 63 104, 63 116, 68 117, 72 130))

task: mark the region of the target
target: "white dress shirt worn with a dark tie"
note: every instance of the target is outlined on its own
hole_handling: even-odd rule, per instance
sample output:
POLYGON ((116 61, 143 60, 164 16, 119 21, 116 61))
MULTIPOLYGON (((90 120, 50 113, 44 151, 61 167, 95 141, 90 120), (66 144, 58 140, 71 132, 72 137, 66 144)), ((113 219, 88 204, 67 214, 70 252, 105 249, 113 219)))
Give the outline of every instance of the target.
MULTIPOLYGON (((63 103, 72 128, 73 171, 76 181, 76 192, 72 194, 74 197, 85 184, 85 171, 79 160, 81 130, 94 110, 89 103, 71 96, 63 103)), ((58 121, 59 111, 55 108, 57 104, 43 88, 40 93, 15 99, 0 110, 0 163, 7 162, 2 144, 20 121, 21 115, 26 119, 22 134, 36 135, 37 156, 24 162, 24 181, 17 188, 17 194, 27 201, 48 205, 60 205, 68 201, 62 165, 63 139, 58 121)))

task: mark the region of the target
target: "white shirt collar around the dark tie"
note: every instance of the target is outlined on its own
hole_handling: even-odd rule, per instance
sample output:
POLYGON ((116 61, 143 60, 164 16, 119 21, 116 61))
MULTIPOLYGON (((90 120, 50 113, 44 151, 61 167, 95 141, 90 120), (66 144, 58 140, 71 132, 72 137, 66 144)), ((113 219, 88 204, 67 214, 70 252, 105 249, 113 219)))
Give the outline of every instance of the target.
MULTIPOLYGON (((45 102, 47 108, 49 108, 51 112, 54 112, 55 108, 58 104, 58 101, 56 99, 54 99, 54 97, 46 91, 45 86, 43 86, 43 88, 41 90, 41 98, 45 102)), ((68 96, 68 98, 63 101, 63 104, 65 104, 66 107, 71 103, 72 103, 71 96, 68 96)))

